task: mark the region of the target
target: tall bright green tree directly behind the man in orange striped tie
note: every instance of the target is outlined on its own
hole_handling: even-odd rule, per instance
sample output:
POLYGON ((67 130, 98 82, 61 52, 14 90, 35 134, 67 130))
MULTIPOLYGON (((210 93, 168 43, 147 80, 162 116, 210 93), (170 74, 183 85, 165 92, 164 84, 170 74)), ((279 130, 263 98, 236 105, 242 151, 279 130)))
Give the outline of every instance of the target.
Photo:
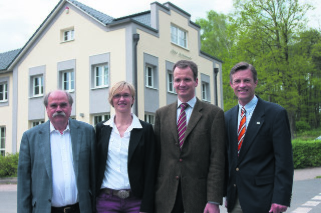
POLYGON ((304 29, 311 6, 298 0, 235 0, 234 7, 239 26, 236 52, 256 67, 257 94, 287 109, 293 136, 300 74, 291 65, 290 47, 304 29))

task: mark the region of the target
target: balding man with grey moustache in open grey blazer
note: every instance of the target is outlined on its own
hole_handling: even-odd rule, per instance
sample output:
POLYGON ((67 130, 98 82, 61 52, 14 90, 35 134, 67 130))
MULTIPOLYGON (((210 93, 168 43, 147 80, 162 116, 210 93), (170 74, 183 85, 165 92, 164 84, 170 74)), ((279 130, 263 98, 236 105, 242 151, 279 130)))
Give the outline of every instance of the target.
POLYGON ((21 140, 18 213, 93 212, 94 128, 69 119, 69 93, 48 93, 44 103, 49 121, 26 131, 21 140))

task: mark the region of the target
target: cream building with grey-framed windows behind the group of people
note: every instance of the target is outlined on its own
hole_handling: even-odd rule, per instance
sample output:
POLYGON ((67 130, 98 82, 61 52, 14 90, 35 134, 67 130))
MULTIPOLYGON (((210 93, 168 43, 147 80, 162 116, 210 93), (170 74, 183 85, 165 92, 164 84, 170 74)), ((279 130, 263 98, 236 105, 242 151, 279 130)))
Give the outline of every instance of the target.
POLYGON ((8 69, 0 71, 0 83, 3 79, 9 85, 7 102, 0 102, 6 152, 19 151, 24 131, 34 122, 48 120, 43 97, 49 91, 66 89, 65 84, 74 98, 74 119, 94 125, 108 118, 113 113, 109 88, 126 80, 137 88, 133 112, 153 122, 156 109, 177 99, 169 84, 172 66, 182 59, 198 65, 197 97, 223 108, 222 62, 200 51, 200 28, 188 13, 171 3, 155 2, 150 12, 106 24, 88 10, 76 1, 60 1, 8 69), (171 26, 185 32, 185 47, 172 41, 171 26), (72 33, 72 39, 64 41, 65 32, 72 33), (98 68, 104 69, 104 84, 99 86, 98 68), (66 83, 69 75, 73 80, 66 83), (43 79, 43 93, 35 95, 38 78, 43 79))

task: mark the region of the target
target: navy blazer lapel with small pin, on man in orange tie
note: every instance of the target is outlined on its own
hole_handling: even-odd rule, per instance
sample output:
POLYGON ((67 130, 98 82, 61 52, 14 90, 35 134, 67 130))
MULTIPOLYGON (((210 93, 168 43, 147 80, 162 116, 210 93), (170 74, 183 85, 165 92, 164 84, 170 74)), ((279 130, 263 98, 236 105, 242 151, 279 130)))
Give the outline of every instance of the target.
MULTIPOLYGON (((262 100, 258 98, 257 105, 254 109, 253 115, 251 117, 251 120, 247 126, 243 144, 240 150, 240 155, 238 160, 242 160, 244 156, 246 156, 246 152, 249 150, 251 145, 254 142, 254 138, 258 134, 261 126, 264 123, 264 105, 262 103, 262 100)), ((237 145, 236 145, 237 147, 237 145)))

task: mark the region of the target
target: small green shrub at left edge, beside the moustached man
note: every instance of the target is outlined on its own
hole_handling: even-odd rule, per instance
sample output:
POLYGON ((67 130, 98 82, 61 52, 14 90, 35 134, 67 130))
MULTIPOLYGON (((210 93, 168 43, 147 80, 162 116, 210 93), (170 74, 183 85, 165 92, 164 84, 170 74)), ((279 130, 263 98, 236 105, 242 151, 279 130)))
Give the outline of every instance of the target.
POLYGON ((0 177, 17 177, 19 153, 0 156, 0 177))

